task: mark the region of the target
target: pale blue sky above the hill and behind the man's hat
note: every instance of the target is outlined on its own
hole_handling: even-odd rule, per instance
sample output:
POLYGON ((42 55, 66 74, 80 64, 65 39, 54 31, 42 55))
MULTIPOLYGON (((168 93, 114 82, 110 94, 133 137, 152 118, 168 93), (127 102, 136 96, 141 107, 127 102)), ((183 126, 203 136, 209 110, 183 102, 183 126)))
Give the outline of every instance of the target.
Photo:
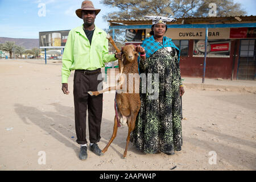
MULTIPOLYGON (((83 21, 75 14, 82 0, 0 0, 0 37, 38 39, 39 32, 71 30, 83 21), (45 5, 45 9, 44 6, 45 5), (45 11, 44 11, 45 10, 45 11)), ((92 1, 101 12, 96 16, 96 26, 104 29, 109 23, 103 15, 113 12, 100 1, 92 1)), ((234 0, 242 4, 246 15, 256 15, 255 0, 234 0)))

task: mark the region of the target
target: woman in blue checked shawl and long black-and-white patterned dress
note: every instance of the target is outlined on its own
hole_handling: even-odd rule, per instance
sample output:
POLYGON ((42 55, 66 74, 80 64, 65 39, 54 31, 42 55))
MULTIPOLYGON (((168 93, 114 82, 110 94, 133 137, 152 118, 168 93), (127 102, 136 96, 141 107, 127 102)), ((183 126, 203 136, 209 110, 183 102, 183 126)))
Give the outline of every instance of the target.
POLYGON ((158 81, 159 92, 156 99, 149 98, 152 94, 148 90, 141 93, 141 109, 131 133, 131 142, 146 154, 161 151, 172 155, 182 146, 180 96, 183 96, 184 89, 179 68, 180 51, 171 39, 164 36, 166 22, 153 21, 151 30, 152 36, 137 46, 141 53, 139 71, 147 76, 152 73, 152 85, 156 86, 158 81), (158 77, 154 73, 158 73, 158 77))

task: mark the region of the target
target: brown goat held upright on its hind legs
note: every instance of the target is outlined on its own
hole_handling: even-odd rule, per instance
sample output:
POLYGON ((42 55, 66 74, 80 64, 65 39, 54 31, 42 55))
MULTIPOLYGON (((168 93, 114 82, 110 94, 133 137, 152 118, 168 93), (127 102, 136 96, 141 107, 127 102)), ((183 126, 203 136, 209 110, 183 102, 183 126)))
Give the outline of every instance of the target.
POLYGON ((115 118, 114 118, 113 134, 109 140, 109 143, 102 150, 102 153, 104 154, 108 150, 110 144, 113 142, 114 138, 116 137, 117 129, 119 125, 118 118, 120 118, 121 124, 122 125, 127 124, 129 128, 128 136, 126 139, 126 148, 125 148, 125 152, 123 153, 123 159, 126 158, 127 147, 130 142, 130 133, 131 131, 134 130, 136 117, 141 107, 141 99, 139 97, 139 90, 138 90, 139 72, 138 72, 137 58, 138 58, 138 52, 136 51, 133 45, 127 45, 123 47, 122 60, 121 59, 118 60, 119 72, 120 72, 120 77, 118 78, 118 85, 106 88, 104 90, 96 91, 96 92, 88 92, 92 96, 93 95, 97 96, 98 94, 104 93, 106 91, 117 90, 115 93, 115 101, 117 103, 118 109, 116 111, 115 118), (130 78, 131 73, 133 74, 132 78, 130 78), (129 76, 129 78, 127 78, 127 76, 129 76), (135 81, 133 80, 133 78, 135 78, 135 81), (133 84, 131 88, 132 90, 129 90, 130 86, 129 88, 126 86, 127 92, 122 92, 124 91, 123 88, 125 88, 125 84, 129 85, 129 82, 130 84, 133 84), (136 88, 137 90, 135 90, 136 88), (118 91, 121 91, 121 93, 118 91))

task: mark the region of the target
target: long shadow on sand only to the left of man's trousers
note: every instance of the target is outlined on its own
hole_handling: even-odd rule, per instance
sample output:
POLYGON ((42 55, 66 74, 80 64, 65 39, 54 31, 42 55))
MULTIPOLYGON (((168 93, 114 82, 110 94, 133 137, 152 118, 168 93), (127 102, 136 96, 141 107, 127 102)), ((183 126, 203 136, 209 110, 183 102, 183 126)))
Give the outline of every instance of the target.
POLYGON ((30 125, 32 122, 34 125, 39 126, 42 130, 46 131, 46 134, 52 135, 59 142, 64 143, 65 146, 72 148, 78 157, 79 147, 76 146, 74 137, 76 134, 73 129, 75 122, 69 116, 71 114, 67 114, 67 110, 68 113, 73 113, 71 112, 73 108, 60 104, 51 105, 56 107, 57 112, 41 111, 36 107, 24 106, 22 104, 15 104, 14 109, 26 125, 30 125))

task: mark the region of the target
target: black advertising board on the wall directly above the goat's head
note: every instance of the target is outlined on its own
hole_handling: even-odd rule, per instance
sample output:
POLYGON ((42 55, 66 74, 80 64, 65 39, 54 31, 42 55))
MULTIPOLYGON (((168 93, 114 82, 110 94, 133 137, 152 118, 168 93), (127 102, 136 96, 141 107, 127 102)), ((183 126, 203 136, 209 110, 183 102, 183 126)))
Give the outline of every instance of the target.
POLYGON ((146 29, 127 29, 125 31, 126 42, 142 42, 146 38, 146 29))

